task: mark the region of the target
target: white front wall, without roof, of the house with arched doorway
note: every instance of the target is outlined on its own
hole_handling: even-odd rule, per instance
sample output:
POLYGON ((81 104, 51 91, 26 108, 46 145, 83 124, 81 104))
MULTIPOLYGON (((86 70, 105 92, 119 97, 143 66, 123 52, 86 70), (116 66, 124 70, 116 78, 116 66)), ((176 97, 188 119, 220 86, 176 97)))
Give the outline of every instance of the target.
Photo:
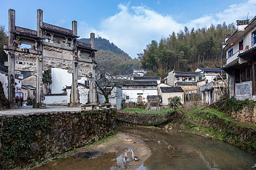
POLYGON ((148 95, 158 95, 158 89, 123 89, 123 97, 129 96, 125 102, 138 102, 138 96, 142 97, 143 102, 147 102, 148 95), (140 94, 138 94, 140 93, 140 94), (142 94, 141 94, 142 93, 142 94))

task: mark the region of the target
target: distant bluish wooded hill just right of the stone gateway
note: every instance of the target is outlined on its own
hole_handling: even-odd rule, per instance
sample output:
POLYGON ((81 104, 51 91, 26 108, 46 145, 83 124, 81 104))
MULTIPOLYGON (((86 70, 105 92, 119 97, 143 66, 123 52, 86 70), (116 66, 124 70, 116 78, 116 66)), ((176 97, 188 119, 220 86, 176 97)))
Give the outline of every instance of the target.
MULTIPOLYGON (((79 41, 90 44, 90 38, 81 38, 79 41)), ((98 50, 95 56, 98 66, 118 62, 120 74, 123 75, 131 74, 134 68, 139 68, 138 59, 132 59, 127 53, 105 38, 95 38, 95 48, 98 50)))

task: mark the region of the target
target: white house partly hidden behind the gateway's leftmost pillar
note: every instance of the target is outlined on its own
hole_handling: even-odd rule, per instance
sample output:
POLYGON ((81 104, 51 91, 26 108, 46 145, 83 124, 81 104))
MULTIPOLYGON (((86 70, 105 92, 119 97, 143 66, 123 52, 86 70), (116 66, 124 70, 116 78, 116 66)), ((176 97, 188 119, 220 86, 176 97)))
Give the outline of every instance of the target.
MULTIPOLYGON (((8 98, 8 73, 0 70, 0 82, 2 83, 3 92, 8 98)), ((15 77, 15 92, 21 92, 21 79, 15 77)))

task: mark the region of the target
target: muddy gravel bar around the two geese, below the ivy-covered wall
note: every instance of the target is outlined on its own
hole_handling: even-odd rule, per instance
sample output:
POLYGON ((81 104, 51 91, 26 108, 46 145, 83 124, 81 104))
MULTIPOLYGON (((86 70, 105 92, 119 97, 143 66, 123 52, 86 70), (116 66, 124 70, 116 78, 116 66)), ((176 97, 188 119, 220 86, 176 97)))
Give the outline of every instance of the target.
POLYGON ((150 156, 151 151, 140 140, 139 136, 119 132, 115 137, 108 138, 102 143, 92 144, 86 148, 77 149, 76 153, 70 153, 68 158, 57 159, 40 167, 36 170, 108 170, 130 169, 135 170, 143 164, 150 156), (127 155, 130 161, 125 164, 123 156, 127 149, 127 155), (132 152, 139 156, 139 160, 133 162, 132 152))

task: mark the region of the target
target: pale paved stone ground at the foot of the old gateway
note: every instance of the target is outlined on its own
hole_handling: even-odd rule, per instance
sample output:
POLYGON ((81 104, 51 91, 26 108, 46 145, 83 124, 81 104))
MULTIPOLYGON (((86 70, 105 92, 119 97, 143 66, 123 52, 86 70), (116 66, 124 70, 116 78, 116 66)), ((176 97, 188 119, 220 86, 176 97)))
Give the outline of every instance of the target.
POLYGON ((45 109, 33 108, 32 106, 22 106, 18 109, 5 109, 0 110, 0 116, 13 116, 13 115, 33 115, 40 113, 56 113, 56 112, 81 112, 80 107, 67 107, 67 106, 56 106, 47 105, 45 109))

